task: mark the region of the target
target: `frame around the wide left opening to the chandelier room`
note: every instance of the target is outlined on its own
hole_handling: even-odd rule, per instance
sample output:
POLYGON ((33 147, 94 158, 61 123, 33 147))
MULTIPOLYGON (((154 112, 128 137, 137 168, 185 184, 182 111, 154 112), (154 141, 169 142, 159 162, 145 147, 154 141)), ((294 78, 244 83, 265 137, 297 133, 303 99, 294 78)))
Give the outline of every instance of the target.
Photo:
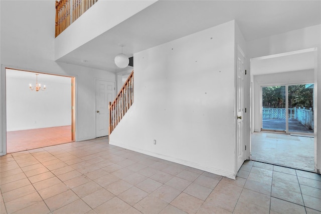
POLYGON ((26 71, 26 72, 32 72, 32 73, 40 73, 40 74, 47 74, 47 75, 55 75, 55 76, 63 76, 63 77, 69 77, 71 78, 71 138, 72 142, 76 141, 76 77, 75 76, 66 76, 66 75, 60 75, 60 74, 53 74, 53 73, 46 73, 46 72, 38 72, 38 71, 31 71, 31 70, 25 70, 20 68, 15 68, 14 66, 5 66, 2 65, 1 67, 1 82, 0 82, 0 88, 1 90, 1 96, 2 99, 0 100, 1 104, 1 112, 0 112, 0 119, 2 123, 0 124, 0 130, 2 130, 1 138, 0 138, 0 156, 7 155, 7 101, 6 101, 6 95, 7 95, 7 88, 6 88, 6 69, 12 69, 17 71, 26 71))

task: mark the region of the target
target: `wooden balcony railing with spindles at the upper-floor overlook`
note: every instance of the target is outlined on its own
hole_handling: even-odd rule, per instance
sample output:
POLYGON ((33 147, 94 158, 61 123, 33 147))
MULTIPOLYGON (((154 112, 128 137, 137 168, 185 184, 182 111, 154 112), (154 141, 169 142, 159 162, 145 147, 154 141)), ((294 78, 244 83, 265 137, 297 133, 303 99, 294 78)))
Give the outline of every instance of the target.
POLYGON ((56 1, 56 33, 57 37, 71 23, 78 19, 98 0, 60 0, 56 1))

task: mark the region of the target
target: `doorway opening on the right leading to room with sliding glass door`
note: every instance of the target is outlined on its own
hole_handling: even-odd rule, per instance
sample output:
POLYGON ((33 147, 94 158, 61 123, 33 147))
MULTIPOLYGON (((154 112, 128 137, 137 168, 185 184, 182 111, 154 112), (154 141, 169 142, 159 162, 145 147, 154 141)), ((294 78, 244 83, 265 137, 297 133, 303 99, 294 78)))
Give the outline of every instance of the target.
POLYGON ((251 59, 252 160, 315 171, 315 51, 251 59))

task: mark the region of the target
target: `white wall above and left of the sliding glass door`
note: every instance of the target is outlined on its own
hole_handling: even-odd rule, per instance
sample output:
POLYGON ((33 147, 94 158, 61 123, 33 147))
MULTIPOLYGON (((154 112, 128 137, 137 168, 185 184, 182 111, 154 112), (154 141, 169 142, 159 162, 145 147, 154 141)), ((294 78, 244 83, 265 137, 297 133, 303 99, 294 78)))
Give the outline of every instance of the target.
POLYGON ((255 75, 254 92, 254 131, 261 131, 261 86, 305 84, 314 82, 314 70, 292 71, 276 74, 255 75))

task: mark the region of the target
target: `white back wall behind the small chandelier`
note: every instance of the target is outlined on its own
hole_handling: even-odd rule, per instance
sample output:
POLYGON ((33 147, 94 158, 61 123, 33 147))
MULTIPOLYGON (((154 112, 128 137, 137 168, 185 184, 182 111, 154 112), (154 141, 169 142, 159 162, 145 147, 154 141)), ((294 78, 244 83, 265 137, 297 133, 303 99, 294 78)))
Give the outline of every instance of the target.
POLYGON ((7 131, 71 125, 70 77, 51 75, 51 79, 44 81, 44 74, 40 74, 38 81, 42 86, 46 84, 47 88, 44 91, 32 91, 28 85, 35 85, 35 73, 31 73, 32 78, 21 78, 9 77, 8 72, 19 74, 23 71, 7 69, 7 131))

